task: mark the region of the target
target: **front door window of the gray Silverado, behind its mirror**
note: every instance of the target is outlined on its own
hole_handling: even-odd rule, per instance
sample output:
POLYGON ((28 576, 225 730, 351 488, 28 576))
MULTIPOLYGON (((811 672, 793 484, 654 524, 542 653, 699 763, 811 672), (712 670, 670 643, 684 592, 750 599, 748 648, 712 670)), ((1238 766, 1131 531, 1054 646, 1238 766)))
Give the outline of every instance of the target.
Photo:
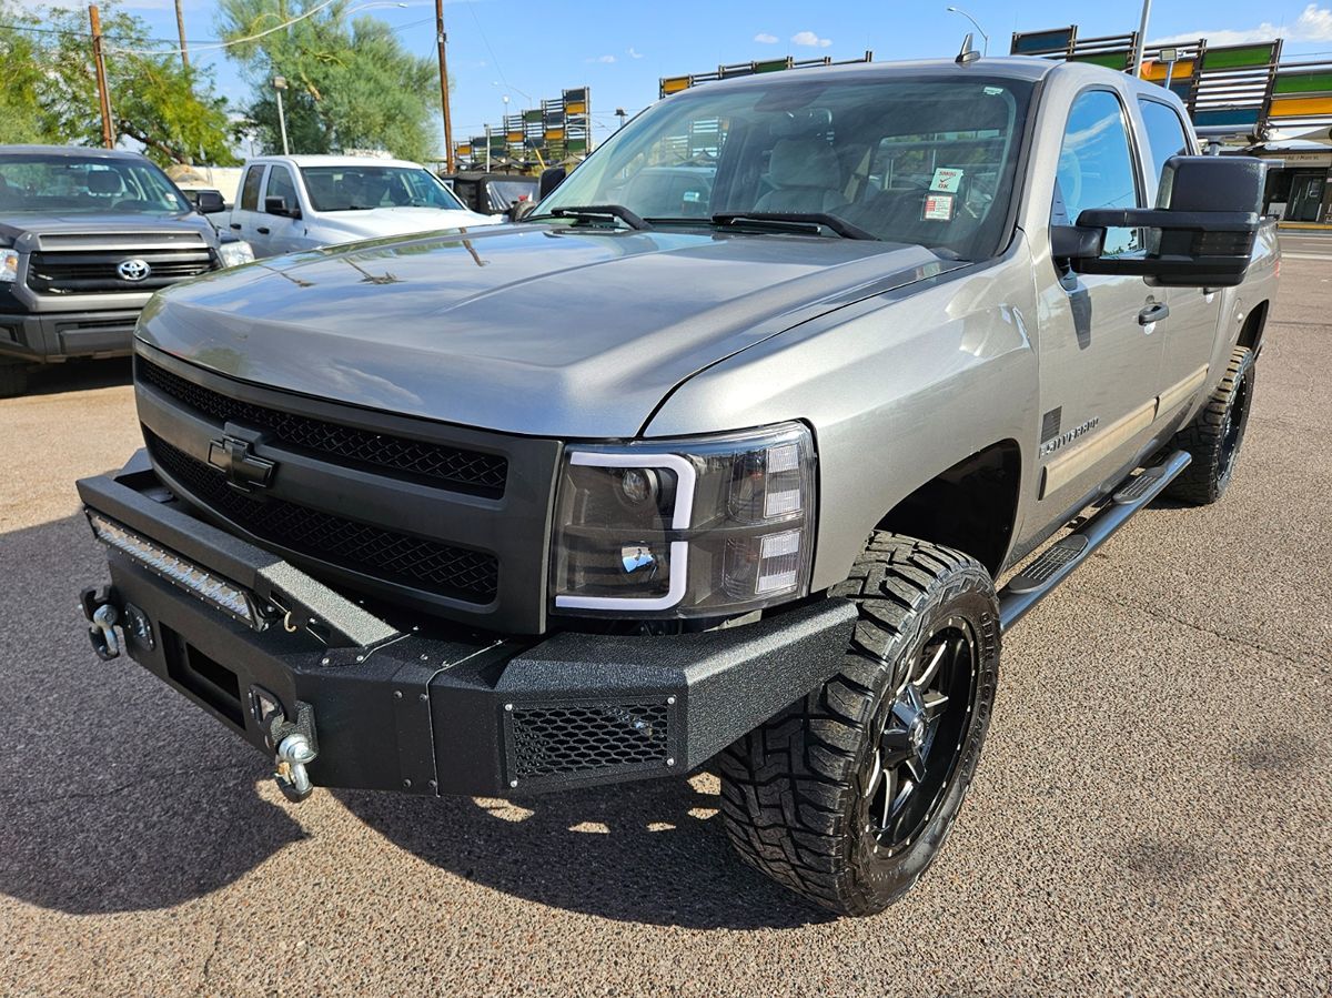
MULTIPOLYGON (((1068 112, 1051 223, 1072 225, 1087 208, 1142 208, 1124 108, 1110 91, 1087 91, 1068 112)), ((1142 249, 1139 229, 1108 229, 1106 256, 1142 249)))

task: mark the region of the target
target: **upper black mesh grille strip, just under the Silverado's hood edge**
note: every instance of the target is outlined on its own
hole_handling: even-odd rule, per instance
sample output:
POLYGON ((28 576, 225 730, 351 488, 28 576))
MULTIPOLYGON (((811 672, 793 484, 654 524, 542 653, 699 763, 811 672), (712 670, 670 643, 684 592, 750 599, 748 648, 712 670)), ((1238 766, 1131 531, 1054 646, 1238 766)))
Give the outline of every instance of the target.
POLYGON ((136 360, 136 373, 140 381, 164 392, 196 413, 222 422, 252 425, 290 446, 346 464, 388 468, 436 482, 444 481, 456 489, 478 496, 494 498, 503 496, 509 461, 500 454, 373 433, 244 402, 186 381, 143 357, 136 360))

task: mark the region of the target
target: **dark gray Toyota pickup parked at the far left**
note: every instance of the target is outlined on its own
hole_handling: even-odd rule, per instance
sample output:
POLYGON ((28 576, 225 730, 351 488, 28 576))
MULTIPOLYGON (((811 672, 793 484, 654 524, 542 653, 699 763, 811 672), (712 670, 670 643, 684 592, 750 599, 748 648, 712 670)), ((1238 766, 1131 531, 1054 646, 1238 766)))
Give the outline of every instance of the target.
POLYGON ((0 145, 0 396, 41 364, 129 353, 155 290, 252 260, 208 209, 137 153, 0 145))

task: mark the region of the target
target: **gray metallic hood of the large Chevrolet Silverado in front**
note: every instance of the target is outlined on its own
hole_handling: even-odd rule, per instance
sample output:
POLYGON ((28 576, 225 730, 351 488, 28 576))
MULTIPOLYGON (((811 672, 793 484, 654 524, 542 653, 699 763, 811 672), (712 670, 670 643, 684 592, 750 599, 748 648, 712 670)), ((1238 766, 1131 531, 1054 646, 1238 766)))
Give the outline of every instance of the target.
POLYGON ((498 225, 209 274, 156 296, 139 336, 308 396, 513 433, 633 437, 695 372, 963 265, 888 243, 498 225))

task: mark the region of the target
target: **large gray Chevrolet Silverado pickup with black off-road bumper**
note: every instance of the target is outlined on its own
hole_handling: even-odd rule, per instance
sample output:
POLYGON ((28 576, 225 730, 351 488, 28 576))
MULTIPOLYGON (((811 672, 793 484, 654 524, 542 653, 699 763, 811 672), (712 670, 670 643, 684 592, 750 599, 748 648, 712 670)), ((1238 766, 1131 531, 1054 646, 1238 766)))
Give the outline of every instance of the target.
POLYGON ((558 180, 153 298, 145 449, 79 484, 93 646, 293 799, 710 766, 749 863, 879 911, 1004 632, 1158 496, 1225 492, 1261 164, 1159 87, 968 53, 699 87, 558 180))

